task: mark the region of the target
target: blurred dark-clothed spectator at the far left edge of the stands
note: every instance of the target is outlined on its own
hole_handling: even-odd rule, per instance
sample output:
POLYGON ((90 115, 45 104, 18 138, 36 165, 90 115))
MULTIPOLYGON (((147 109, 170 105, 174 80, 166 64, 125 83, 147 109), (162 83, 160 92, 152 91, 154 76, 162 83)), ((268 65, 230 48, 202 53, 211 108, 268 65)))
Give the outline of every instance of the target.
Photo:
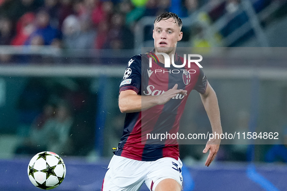
POLYGON ((10 45, 13 38, 12 21, 9 18, 0 18, 0 45, 10 45))

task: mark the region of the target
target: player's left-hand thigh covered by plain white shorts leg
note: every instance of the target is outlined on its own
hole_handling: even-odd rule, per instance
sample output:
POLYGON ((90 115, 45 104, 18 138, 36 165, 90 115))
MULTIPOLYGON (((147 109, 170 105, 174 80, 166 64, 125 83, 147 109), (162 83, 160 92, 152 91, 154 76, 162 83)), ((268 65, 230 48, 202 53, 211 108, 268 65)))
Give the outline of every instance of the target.
POLYGON ((144 161, 113 156, 102 183, 102 191, 137 191, 144 182, 144 161))

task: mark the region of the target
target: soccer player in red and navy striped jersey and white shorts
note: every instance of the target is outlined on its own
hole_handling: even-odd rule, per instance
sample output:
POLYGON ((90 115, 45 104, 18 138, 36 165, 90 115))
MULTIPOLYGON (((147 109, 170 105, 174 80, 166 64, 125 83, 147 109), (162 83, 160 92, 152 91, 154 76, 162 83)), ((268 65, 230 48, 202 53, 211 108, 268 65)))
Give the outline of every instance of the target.
MULTIPOLYGON (((178 144, 170 139, 150 140, 145 135, 176 133, 192 89, 201 95, 213 133, 222 133, 217 96, 203 70, 196 63, 185 66, 185 70, 170 63, 165 68, 164 56, 157 54, 166 53, 174 64, 183 65, 184 58, 175 53, 183 37, 181 27, 182 20, 176 14, 159 15, 154 20, 154 50, 128 61, 118 98, 120 111, 126 113, 123 135, 109 163, 102 191, 138 191, 143 183, 151 191, 183 189, 178 144)), ((219 143, 218 139, 207 142, 203 150, 209 150, 205 166, 215 158, 219 143)))

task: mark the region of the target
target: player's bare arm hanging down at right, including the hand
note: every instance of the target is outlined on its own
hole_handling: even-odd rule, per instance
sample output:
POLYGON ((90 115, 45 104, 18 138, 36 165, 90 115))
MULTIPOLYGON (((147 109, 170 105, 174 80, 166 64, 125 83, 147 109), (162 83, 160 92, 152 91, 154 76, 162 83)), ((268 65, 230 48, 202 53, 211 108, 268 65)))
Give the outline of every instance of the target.
MULTIPOLYGON (((210 86, 208 81, 205 93, 200 95, 203 102, 203 106, 206 110, 207 116, 211 124, 212 132, 213 134, 217 133, 220 135, 222 133, 222 127, 220 122, 218 100, 214 89, 210 86)), ((205 166, 209 166, 215 158, 219 150, 219 144, 220 139, 211 139, 210 141, 207 141, 206 146, 203 150, 204 154, 207 153, 207 151, 209 150, 209 155, 205 162, 205 166)))

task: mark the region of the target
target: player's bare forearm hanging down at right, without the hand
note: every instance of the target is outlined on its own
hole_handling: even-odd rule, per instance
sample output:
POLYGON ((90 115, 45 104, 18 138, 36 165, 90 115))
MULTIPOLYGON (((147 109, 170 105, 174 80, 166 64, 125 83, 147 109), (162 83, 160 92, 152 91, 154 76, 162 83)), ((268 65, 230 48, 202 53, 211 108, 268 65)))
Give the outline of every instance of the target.
POLYGON ((215 91, 212 89, 207 95, 201 95, 201 98, 209 118, 212 131, 222 133, 219 105, 215 91))

